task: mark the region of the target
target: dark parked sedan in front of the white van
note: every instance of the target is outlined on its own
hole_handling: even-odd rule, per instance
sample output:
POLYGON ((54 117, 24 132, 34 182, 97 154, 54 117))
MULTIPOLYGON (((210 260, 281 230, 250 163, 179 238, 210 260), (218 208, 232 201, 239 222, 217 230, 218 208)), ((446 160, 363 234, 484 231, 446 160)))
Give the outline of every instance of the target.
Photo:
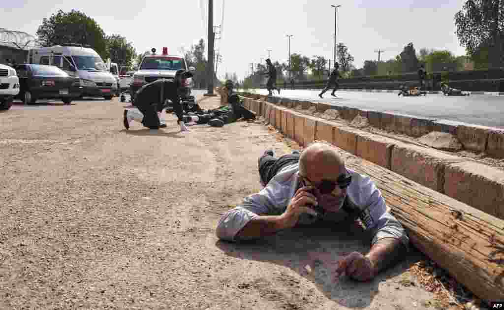
POLYGON ((82 94, 79 77, 72 77, 55 66, 25 64, 15 69, 20 84, 16 98, 24 104, 33 104, 37 99, 61 99, 70 104, 82 94))

